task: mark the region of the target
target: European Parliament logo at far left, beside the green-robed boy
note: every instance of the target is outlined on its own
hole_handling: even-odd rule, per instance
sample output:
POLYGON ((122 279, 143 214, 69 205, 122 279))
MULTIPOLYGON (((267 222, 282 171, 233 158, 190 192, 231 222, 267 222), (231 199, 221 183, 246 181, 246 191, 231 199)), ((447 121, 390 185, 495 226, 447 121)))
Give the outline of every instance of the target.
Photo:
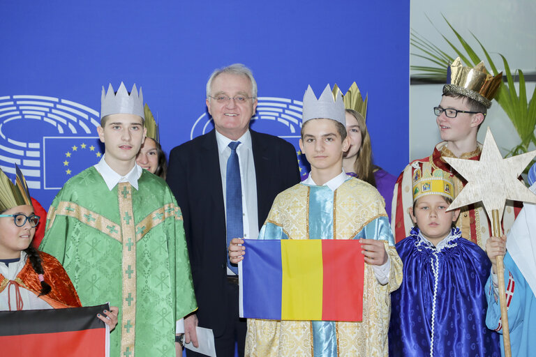
POLYGON ((0 168, 19 165, 31 189, 57 190, 103 155, 99 114, 48 96, 0 97, 0 168))

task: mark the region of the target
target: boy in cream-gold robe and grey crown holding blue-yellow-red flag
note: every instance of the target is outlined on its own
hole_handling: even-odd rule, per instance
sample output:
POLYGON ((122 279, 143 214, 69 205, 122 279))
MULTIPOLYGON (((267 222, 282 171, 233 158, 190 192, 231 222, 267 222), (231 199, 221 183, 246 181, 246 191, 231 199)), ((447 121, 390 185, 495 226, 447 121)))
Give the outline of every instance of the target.
MULTIPOLYGON (((389 294, 401 284, 402 264, 385 204, 372 185, 342 169, 349 140, 341 93, 334 98, 327 86, 317 100, 309 87, 303 108, 299 146, 311 174, 276 197, 259 239, 359 239, 366 262, 362 321, 248 319, 246 356, 387 356, 389 294)), ((242 243, 230 244, 233 263, 244 259, 242 243)))

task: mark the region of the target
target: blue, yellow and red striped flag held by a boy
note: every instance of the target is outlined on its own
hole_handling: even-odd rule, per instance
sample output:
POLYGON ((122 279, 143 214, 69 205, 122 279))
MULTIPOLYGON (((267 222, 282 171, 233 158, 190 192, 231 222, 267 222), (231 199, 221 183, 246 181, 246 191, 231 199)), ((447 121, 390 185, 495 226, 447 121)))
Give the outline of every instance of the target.
POLYGON ((244 241, 240 317, 362 321, 364 256, 359 241, 244 241))

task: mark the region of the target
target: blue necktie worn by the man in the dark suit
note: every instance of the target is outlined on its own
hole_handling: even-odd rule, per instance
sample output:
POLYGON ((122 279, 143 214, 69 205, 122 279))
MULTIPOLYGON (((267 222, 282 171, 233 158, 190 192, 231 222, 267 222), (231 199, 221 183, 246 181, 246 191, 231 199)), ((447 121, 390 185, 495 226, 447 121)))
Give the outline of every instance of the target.
MULTIPOLYGON (((240 142, 230 142, 231 155, 227 160, 227 246, 232 238, 244 238, 244 223, 242 221, 242 185, 240 180, 240 163, 237 146, 240 142)), ((231 264, 227 256, 227 266, 238 275, 237 264, 231 264)))

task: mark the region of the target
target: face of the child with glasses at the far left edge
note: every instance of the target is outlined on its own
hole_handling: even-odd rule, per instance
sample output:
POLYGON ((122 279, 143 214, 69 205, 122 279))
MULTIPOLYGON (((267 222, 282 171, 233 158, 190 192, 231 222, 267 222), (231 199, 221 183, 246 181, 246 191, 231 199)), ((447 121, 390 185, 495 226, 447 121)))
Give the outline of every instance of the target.
MULTIPOLYGON (((22 213, 30 216, 34 214, 32 206, 16 206, 4 211, 4 215, 22 213)), ((24 218, 22 218, 24 220, 24 218)), ((22 227, 17 227, 13 217, 0 217, 0 259, 16 259, 20 257, 21 250, 29 247, 36 234, 36 228, 31 227, 29 220, 22 227)))

